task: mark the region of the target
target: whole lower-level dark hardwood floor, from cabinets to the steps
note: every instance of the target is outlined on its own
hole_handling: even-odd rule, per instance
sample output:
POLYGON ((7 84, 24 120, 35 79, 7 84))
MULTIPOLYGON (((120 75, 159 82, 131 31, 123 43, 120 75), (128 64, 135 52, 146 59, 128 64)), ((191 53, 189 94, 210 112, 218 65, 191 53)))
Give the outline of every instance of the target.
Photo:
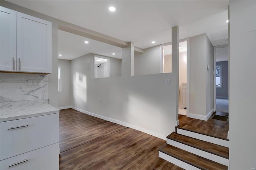
POLYGON ((182 170, 158 157, 165 143, 73 109, 60 111, 60 170, 182 170))

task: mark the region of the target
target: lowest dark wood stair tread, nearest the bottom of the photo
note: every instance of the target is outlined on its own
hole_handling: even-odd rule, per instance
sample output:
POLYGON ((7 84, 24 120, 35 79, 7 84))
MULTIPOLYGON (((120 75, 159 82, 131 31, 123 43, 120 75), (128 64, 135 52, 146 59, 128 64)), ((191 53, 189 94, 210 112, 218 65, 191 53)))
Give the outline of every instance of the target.
POLYGON ((170 156, 173 156, 174 158, 177 158, 179 160, 182 160, 183 162, 191 164, 192 166, 196 166, 197 168, 202 170, 227 170, 228 169, 228 166, 219 164, 212 160, 208 160, 206 158, 192 154, 190 152, 187 152, 186 150, 182 150, 180 148, 177 148, 169 144, 166 144, 159 151, 165 154, 168 154, 170 156))

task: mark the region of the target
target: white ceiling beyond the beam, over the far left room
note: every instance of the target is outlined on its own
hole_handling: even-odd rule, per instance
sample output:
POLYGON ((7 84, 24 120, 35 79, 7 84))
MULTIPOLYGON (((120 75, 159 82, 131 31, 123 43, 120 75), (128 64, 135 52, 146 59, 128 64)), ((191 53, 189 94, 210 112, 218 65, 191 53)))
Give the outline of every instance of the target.
POLYGON ((59 59, 72 60, 88 53, 122 58, 122 48, 120 47, 58 30, 58 55, 62 55, 58 56, 59 59), (85 41, 88 43, 84 43, 85 41))

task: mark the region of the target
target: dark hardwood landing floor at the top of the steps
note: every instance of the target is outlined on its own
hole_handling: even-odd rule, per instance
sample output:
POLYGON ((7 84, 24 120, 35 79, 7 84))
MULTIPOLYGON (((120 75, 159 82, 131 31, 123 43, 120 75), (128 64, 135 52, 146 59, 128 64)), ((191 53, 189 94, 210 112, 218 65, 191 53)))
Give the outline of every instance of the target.
POLYGON ((202 121, 179 115, 179 127, 226 139, 228 137, 228 121, 215 120, 211 117, 208 121, 202 121))

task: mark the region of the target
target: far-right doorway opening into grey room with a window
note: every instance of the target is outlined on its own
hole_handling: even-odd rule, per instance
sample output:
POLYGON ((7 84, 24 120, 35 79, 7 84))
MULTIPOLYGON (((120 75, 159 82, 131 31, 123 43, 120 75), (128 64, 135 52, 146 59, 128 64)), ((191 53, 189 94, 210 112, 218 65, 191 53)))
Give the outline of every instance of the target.
POLYGON ((228 44, 214 47, 214 111, 216 115, 228 116, 228 44))

